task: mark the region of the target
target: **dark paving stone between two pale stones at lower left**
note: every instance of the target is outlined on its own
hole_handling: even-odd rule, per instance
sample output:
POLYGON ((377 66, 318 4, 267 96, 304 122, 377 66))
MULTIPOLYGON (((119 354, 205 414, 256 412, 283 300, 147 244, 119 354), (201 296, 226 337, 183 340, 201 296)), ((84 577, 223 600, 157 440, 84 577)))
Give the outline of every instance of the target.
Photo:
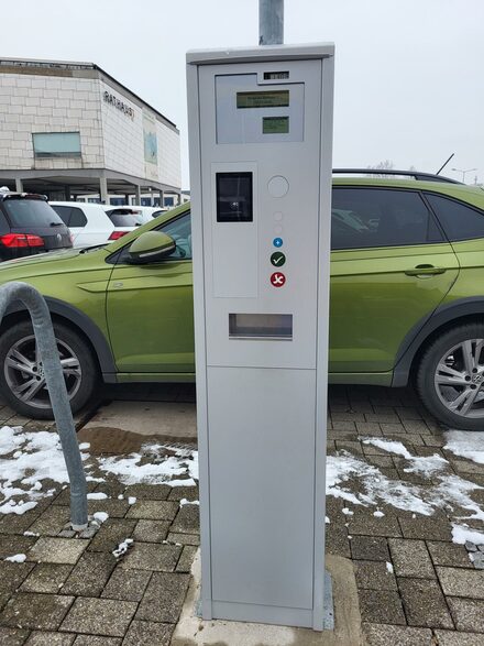
POLYGON ((84 554, 63 585, 63 594, 99 596, 116 567, 112 554, 88 551, 84 554))

